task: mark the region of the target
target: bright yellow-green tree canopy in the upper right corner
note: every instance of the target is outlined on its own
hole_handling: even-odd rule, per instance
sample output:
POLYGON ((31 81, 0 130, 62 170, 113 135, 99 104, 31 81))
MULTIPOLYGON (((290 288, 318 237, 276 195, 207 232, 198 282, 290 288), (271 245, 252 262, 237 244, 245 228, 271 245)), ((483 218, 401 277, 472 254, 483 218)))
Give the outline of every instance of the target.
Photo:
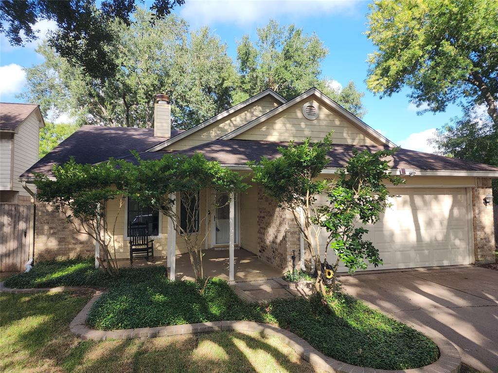
POLYGON ((368 88, 403 87, 417 106, 485 104, 498 129, 498 1, 375 0, 368 15, 368 88))

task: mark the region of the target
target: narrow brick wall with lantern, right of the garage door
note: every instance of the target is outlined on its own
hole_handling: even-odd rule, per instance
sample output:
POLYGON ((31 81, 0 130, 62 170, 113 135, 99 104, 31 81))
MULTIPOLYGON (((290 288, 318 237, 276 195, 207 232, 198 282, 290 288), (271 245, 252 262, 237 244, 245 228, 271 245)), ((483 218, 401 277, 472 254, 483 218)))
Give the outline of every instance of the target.
POLYGON ((485 206, 484 197, 492 194, 491 179, 477 179, 472 188, 472 216, 474 224, 474 253, 476 263, 495 262, 495 227, 493 206, 485 206))

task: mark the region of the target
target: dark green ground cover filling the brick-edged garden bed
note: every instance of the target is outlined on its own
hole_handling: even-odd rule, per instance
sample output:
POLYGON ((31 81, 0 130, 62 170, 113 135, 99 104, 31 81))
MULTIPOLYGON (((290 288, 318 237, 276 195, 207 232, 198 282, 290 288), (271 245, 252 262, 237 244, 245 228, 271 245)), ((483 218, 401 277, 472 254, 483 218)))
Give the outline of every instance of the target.
POLYGON ((241 300, 220 279, 170 281, 165 269, 127 269, 118 278, 96 272, 88 260, 38 264, 37 272, 13 276, 6 286, 86 285, 107 287, 87 323, 95 329, 132 329, 221 320, 276 324, 339 361, 376 369, 411 369, 437 360, 437 346, 422 333, 373 310, 351 296, 241 300), (95 277, 94 277, 95 276, 95 277))

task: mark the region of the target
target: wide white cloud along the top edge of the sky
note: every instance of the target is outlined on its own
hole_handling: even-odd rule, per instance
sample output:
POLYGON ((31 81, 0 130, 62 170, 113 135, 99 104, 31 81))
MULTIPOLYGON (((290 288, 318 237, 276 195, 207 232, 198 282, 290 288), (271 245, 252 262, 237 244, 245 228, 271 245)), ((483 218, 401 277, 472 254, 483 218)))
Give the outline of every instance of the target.
POLYGON ((189 0, 180 14, 195 27, 225 23, 248 25, 281 16, 320 16, 351 10, 359 0, 189 0))

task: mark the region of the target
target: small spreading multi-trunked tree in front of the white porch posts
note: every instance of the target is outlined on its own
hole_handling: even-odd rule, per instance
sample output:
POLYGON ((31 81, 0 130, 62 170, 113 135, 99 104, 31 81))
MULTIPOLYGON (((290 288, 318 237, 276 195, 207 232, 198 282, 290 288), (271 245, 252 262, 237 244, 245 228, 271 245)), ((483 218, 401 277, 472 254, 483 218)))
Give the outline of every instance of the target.
POLYGON ((174 231, 185 243, 196 279, 202 279, 202 249, 211 229, 210 208, 201 209, 202 193, 214 194, 211 207, 216 209, 222 207, 216 205, 217 196, 227 193, 229 199, 221 202, 226 205, 235 193, 245 191, 249 185, 238 173, 206 160, 200 153, 192 157, 166 154, 158 160, 142 160, 137 153, 134 155, 136 162, 120 163, 126 193, 170 218, 174 231), (182 213, 186 216, 182 217, 182 213), (201 229, 203 224, 207 224, 206 229, 201 229))

